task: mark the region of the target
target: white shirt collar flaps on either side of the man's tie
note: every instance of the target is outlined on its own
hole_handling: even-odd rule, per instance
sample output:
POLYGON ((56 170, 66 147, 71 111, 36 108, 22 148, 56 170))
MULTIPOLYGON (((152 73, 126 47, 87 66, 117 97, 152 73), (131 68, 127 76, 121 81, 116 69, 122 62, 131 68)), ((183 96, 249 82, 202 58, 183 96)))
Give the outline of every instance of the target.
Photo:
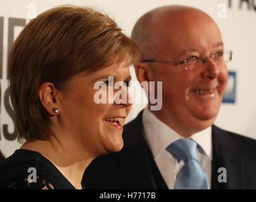
MULTIPOLYGON (((155 117, 146 107, 142 114, 144 138, 147 141, 154 158, 157 158, 170 143, 183 138, 164 122, 155 117)), ((196 141, 204 153, 212 160, 212 128, 195 133, 191 139, 196 141)))

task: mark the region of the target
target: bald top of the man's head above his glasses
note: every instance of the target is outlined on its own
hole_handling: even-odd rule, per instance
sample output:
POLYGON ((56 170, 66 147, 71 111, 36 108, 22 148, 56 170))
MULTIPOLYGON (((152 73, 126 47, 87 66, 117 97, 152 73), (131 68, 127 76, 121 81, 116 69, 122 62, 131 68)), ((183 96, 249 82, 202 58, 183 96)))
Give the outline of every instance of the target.
POLYGON ((212 47, 212 44, 222 42, 214 20, 207 13, 186 6, 153 9, 136 23, 134 30, 136 32, 133 37, 145 56, 151 51, 150 54, 155 54, 156 57, 164 57, 165 52, 170 50, 177 54, 182 50, 198 46, 212 47), (139 29, 140 26, 143 29, 139 29), (150 37, 145 37, 145 32, 150 37), (144 38, 139 37, 140 35, 144 38))

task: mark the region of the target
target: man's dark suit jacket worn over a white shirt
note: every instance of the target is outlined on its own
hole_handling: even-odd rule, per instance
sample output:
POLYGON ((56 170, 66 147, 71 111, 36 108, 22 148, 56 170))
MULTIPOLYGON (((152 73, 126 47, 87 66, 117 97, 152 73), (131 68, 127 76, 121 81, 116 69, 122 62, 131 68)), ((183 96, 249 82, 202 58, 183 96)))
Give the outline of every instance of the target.
MULTIPOLYGON (((97 157, 84 172, 86 189, 168 189, 143 138, 142 112, 124 127, 124 148, 97 157)), ((256 189, 256 140, 212 126, 212 189, 256 189), (227 182, 218 182, 219 167, 227 182)))

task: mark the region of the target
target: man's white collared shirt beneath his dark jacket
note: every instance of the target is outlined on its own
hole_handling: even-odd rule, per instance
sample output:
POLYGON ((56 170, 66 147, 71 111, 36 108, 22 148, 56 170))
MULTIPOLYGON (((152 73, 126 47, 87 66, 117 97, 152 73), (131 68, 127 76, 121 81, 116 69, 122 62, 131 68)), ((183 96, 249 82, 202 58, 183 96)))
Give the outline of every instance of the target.
MULTIPOLYGON (((176 176, 179 170, 184 165, 181 160, 177 161, 169 151, 166 150, 170 143, 183 138, 181 135, 176 133, 173 129, 167 126, 165 123, 157 119, 148 107, 143 111, 142 115, 144 138, 150 146, 150 150, 153 153, 153 158, 157 163, 157 167, 163 176, 163 179, 169 189, 174 189, 176 182, 176 176)), ((197 150, 198 161, 203 170, 205 170, 208 178, 208 187, 210 189, 211 174, 212 174, 212 128, 200 131, 199 133, 193 134, 190 138, 201 148, 197 150)))

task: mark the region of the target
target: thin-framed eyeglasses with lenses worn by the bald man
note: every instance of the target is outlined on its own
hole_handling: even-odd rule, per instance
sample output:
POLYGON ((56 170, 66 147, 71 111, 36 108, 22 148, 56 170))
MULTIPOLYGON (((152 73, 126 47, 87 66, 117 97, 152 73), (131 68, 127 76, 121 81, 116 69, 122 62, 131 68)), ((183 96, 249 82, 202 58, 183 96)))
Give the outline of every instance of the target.
POLYGON ((222 64, 223 62, 230 62, 232 59, 232 50, 227 50, 226 52, 217 52, 216 54, 212 54, 211 56, 208 57, 196 57, 196 56, 191 56, 188 57, 187 59, 184 59, 183 61, 158 61, 154 59, 144 59, 142 62, 167 62, 167 63, 173 63, 175 65, 181 65, 183 70, 192 70, 198 64, 200 63, 199 61, 202 61, 203 64, 207 62, 207 59, 212 58, 215 64, 222 64))

